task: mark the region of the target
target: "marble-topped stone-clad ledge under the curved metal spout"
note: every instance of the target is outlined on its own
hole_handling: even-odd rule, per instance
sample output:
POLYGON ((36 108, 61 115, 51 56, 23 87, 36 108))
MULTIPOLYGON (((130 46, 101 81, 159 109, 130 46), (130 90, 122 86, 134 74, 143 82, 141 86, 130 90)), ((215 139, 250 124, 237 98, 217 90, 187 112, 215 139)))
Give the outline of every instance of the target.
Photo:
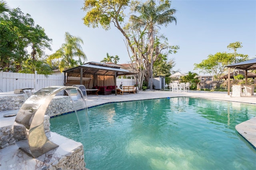
POLYGON ((54 132, 47 132, 46 136, 59 146, 37 158, 28 156, 16 144, 0 149, 1 169, 86 170, 84 149, 80 142, 54 132))

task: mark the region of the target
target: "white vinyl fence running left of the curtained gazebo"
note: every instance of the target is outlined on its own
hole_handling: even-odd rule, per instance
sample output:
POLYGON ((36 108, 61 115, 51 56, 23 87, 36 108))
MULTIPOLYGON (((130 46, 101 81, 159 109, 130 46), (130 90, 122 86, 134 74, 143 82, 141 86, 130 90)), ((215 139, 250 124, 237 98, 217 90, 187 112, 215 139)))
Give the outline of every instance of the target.
POLYGON ((0 92, 12 92, 14 89, 33 88, 40 90, 47 86, 63 86, 63 75, 25 74, 0 72, 0 92))

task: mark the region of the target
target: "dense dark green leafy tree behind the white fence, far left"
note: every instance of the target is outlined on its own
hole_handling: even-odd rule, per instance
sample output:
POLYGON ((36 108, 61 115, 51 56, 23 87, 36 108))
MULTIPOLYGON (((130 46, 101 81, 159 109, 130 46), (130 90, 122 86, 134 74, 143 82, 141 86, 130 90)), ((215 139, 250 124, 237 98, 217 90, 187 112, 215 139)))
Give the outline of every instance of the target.
POLYGON ((37 60, 44 56, 44 49, 51 50, 52 39, 44 32, 44 28, 35 25, 29 14, 20 8, 10 10, 0 17, 0 70, 17 72, 22 61, 32 58, 37 60), (27 48, 32 48, 29 54, 27 48))

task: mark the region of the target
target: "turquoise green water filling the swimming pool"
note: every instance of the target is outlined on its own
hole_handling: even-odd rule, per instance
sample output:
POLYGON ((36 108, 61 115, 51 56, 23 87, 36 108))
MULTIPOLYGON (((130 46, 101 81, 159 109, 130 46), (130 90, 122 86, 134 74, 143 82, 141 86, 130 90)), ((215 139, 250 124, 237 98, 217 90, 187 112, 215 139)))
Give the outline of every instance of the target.
MULTIPOLYGON (((256 106, 165 98, 88 109, 90 170, 255 170, 256 151, 235 126, 256 106)), ((51 131, 82 142, 76 114, 50 119, 51 131)))

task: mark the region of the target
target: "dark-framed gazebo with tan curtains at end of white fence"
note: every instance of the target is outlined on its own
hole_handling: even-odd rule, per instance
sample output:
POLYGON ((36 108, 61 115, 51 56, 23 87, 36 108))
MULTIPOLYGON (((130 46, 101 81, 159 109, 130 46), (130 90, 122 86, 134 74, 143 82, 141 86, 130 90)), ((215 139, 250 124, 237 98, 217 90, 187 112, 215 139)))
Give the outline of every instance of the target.
POLYGON ((116 65, 88 62, 81 66, 65 70, 64 84, 66 86, 80 84, 86 86, 86 88, 108 85, 115 85, 116 87, 116 78, 118 76, 134 74, 137 73, 130 72, 116 65))

